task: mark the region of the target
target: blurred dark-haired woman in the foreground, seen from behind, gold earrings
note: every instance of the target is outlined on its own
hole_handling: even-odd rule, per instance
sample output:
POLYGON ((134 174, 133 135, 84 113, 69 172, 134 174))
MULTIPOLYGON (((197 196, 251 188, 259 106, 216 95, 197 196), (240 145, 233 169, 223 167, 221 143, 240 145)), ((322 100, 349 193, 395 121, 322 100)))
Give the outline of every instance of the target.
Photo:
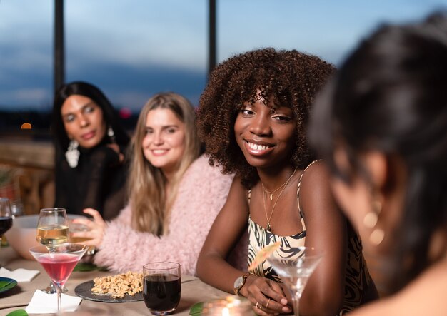
POLYGON ((381 26, 316 101, 313 147, 386 294, 352 315, 447 315, 447 16, 381 26))

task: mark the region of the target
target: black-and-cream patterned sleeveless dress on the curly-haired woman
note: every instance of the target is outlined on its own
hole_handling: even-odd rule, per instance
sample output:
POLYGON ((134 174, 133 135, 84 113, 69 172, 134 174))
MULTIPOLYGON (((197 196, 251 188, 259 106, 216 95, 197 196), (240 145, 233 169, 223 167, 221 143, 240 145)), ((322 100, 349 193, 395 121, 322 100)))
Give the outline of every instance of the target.
MULTIPOLYGON (((248 266, 251 265, 256 254, 259 250, 270 245, 272 243, 280 242, 280 247, 276 250, 276 256, 281 256, 281 258, 296 258, 298 257, 298 253, 293 253, 290 251, 290 248, 293 247, 302 247, 306 240, 306 223, 304 222, 303 213, 301 212, 301 208, 299 206, 299 190, 301 186, 301 179, 303 178, 303 174, 306 172, 307 168, 309 168, 313 163, 309 164, 306 169, 301 173, 301 177, 298 181, 298 189, 297 189, 297 198, 298 198, 298 210, 301 216, 301 224, 303 225, 303 231, 297 233, 292 236, 280 236, 275 235, 261 225, 258 225, 251 217, 248 218, 248 235, 249 235, 249 244, 248 244, 248 266)), ((251 192, 248 191, 248 203, 250 202, 251 192)), ((366 302, 367 298, 366 292, 370 286, 375 288, 373 285, 373 280, 368 272, 368 267, 366 267, 366 261, 363 258, 362 254, 362 245, 360 238, 353 230, 351 225, 348 226, 348 250, 347 250, 347 258, 346 258, 346 277, 345 277, 345 290, 344 290, 344 302, 343 307, 339 315, 343 315, 346 312, 350 312, 354 308, 362 305, 366 302)), ((251 270, 254 275, 258 275, 260 277, 267 277, 271 280, 276 280, 277 282, 281 282, 281 278, 278 277, 278 274, 273 270, 271 265, 264 261, 261 265, 258 265, 254 270, 251 270)))

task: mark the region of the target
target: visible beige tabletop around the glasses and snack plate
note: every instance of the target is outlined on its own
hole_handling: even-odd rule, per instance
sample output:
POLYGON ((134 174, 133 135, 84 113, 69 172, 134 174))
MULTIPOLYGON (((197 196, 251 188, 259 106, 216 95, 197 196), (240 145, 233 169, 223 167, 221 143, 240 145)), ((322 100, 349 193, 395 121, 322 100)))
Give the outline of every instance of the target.
MULTIPOLYGON (((0 293, 0 316, 8 315, 14 310, 25 309, 29 304, 34 292, 49 285, 49 276, 39 263, 35 260, 21 258, 16 251, 9 247, 2 247, 0 250, 0 263, 9 270, 24 268, 27 270, 39 270, 40 273, 31 282, 19 282, 16 287, 6 292, 0 293)), ((76 296, 74 289, 77 285, 95 277, 105 277, 116 275, 117 273, 104 270, 74 271, 65 287, 68 289, 66 295, 76 296)), ((191 307, 199 302, 209 302, 212 300, 224 299, 230 294, 211 287, 202 282, 198 277, 192 275, 181 275, 181 300, 174 315, 189 315, 191 307)), ((86 300, 81 301, 78 310, 91 311, 84 315, 151 315, 144 301, 138 302, 96 302, 86 300)), ((32 315, 32 314, 31 314, 32 315)), ((39 314, 52 315, 52 314, 39 314)))

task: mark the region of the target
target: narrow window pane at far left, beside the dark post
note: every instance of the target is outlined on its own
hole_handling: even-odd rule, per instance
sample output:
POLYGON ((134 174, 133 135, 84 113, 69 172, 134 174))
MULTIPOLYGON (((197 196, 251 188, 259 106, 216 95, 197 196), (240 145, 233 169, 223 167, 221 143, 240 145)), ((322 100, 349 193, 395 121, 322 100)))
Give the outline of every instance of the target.
POLYGON ((52 1, 0 1, 0 131, 49 120, 53 16, 52 1))

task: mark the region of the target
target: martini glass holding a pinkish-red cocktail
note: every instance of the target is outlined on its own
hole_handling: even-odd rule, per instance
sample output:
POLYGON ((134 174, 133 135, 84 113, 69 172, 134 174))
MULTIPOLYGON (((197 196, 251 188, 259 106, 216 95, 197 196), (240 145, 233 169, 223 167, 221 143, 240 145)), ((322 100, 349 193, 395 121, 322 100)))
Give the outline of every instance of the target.
POLYGON ((29 250, 31 255, 44 267, 57 291, 57 311, 61 312, 61 293, 66 280, 89 246, 76 243, 62 243, 51 248, 36 246, 29 250))

